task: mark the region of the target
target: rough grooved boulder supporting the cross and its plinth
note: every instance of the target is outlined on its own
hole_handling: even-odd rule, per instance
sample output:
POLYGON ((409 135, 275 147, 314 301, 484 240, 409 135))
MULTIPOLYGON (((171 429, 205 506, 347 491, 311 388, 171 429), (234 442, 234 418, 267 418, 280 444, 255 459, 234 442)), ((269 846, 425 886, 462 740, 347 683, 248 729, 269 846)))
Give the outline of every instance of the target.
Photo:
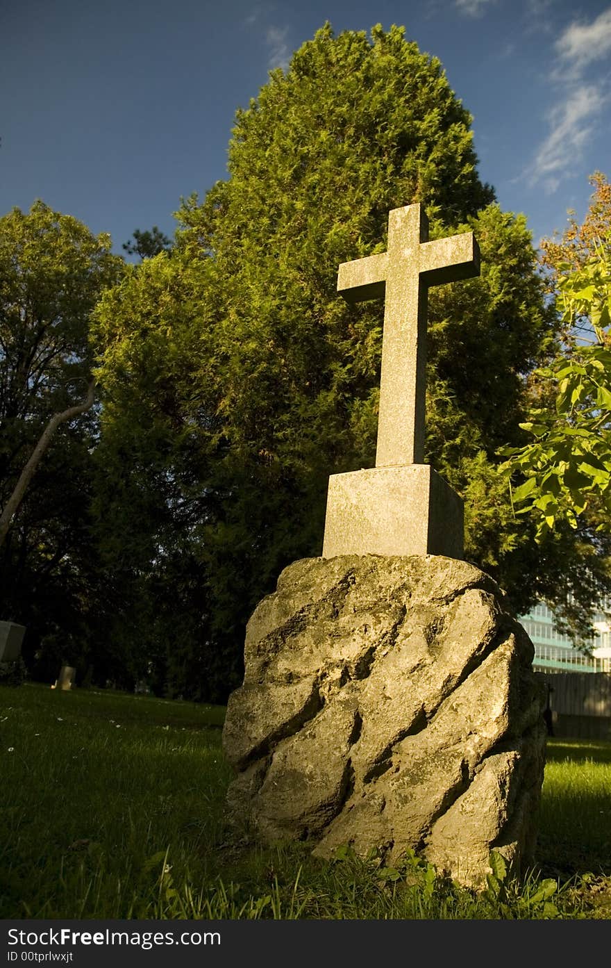
POLYGON ((231 817, 266 843, 412 848, 477 886, 533 861, 533 646, 487 575, 438 556, 296 561, 247 626, 223 749, 231 817))

